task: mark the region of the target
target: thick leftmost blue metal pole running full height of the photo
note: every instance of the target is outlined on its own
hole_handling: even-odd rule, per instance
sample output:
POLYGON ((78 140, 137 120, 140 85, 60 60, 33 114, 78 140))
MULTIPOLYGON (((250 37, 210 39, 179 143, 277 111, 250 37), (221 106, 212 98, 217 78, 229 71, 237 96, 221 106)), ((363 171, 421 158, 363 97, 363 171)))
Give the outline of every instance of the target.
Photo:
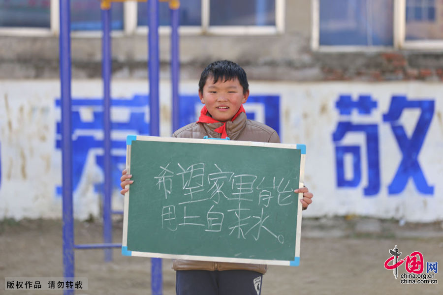
MULTIPOLYGON (((60 0, 60 83, 62 107, 63 276, 74 277, 74 222, 72 210, 70 0, 60 0)), ((65 295, 74 294, 65 290, 65 295)))

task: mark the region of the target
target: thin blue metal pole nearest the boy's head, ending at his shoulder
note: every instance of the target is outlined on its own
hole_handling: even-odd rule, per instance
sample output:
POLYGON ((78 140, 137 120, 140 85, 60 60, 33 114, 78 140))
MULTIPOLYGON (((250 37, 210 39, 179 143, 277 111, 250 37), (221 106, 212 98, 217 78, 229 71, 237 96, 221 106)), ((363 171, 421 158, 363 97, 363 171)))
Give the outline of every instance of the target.
MULTIPOLYGON (((179 5, 178 5, 179 6, 179 5)), ((172 130, 180 128, 180 100, 179 100, 179 34, 180 23, 179 7, 170 7, 171 12, 171 76, 172 76, 172 130)))

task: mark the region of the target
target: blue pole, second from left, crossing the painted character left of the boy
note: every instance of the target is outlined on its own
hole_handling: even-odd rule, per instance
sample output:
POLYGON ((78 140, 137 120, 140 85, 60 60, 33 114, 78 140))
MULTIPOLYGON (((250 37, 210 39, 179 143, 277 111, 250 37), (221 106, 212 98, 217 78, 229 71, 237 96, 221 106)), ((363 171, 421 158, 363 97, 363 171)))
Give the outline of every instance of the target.
MULTIPOLYGON (((111 221, 111 9, 101 9, 102 36, 102 78, 103 78, 103 132, 104 132, 104 200, 103 200, 103 241, 112 242, 111 221)), ((112 249, 104 249, 104 260, 112 260, 112 249)))

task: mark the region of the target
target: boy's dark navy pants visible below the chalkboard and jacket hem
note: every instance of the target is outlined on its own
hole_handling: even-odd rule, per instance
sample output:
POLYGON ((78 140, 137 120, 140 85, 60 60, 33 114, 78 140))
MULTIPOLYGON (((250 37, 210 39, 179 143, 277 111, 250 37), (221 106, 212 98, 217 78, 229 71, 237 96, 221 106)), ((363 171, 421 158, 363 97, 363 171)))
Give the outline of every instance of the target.
POLYGON ((263 275, 251 270, 177 270, 177 295, 260 295, 263 275))

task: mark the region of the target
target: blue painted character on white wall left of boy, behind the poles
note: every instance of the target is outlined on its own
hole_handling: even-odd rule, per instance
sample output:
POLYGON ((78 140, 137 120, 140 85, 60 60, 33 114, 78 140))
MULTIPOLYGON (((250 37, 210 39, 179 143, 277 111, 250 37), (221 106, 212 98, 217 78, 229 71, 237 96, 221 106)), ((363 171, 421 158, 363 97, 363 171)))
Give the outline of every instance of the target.
MULTIPOLYGON (((60 109, 60 99, 56 100, 60 109)), ((150 125, 149 96, 134 95, 130 99, 111 99, 111 177, 115 188, 120 187, 122 168, 126 164, 126 135, 149 135, 150 125), (119 117, 119 118, 116 118, 119 117), (120 134, 120 136, 118 136, 120 134)), ((56 148, 61 148, 61 122, 57 122, 56 148)), ((95 163, 102 170, 103 163, 103 99, 72 99, 72 180, 73 190, 79 185, 84 173, 88 155, 94 151, 95 163), (92 113, 82 116, 84 111, 92 113)), ((97 192, 103 190, 103 183, 95 186, 97 192)), ((61 186, 56 187, 56 195, 61 196, 61 186)))

